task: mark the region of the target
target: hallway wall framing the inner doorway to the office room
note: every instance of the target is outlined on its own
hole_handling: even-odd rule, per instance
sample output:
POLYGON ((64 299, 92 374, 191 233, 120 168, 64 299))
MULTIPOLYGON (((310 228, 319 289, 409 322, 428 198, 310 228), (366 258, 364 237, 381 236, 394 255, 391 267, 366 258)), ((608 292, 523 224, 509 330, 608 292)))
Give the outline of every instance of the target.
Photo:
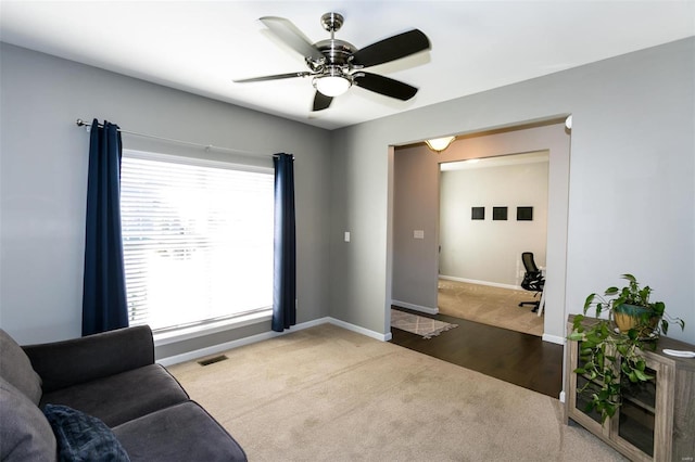
POLYGON ((570 136, 565 127, 565 117, 458 136, 457 140, 440 154, 431 152, 425 143, 394 149, 391 235, 393 305, 427 316, 441 316, 437 315, 439 165, 475 157, 538 151, 549 152, 546 304, 542 341, 529 337, 536 338, 542 345, 564 344, 570 155, 570 136))

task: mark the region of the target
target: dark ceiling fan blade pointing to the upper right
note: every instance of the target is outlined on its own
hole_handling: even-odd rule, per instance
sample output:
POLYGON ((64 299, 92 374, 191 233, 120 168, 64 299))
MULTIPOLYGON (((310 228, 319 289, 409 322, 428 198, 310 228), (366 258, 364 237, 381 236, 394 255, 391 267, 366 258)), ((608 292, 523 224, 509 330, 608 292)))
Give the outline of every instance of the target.
POLYGON ((353 54, 352 62, 364 67, 376 66, 429 49, 427 36, 419 29, 413 29, 363 48, 353 54))

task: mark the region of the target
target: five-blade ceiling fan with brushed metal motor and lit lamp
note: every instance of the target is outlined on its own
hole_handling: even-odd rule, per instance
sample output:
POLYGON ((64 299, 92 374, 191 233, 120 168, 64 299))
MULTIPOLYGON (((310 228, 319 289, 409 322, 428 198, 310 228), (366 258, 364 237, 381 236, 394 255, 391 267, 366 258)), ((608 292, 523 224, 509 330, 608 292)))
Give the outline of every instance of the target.
POLYGON ((321 16, 321 25, 330 33, 330 39, 316 43, 312 43, 294 24, 283 17, 264 16, 261 22, 302 54, 309 70, 235 80, 237 84, 312 77, 316 88, 312 111, 328 108, 334 97, 343 94, 353 85, 402 101, 417 93, 417 88, 410 85, 362 69, 429 50, 430 41, 419 29, 389 37, 358 50, 352 43, 334 37, 343 25, 343 16, 338 13, 321 16))

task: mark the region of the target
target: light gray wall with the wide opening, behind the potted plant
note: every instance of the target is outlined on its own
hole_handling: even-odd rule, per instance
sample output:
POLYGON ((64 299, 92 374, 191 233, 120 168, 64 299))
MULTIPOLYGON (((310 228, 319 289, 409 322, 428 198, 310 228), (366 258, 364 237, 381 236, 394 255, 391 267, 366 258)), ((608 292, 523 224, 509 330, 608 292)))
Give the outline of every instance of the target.
MULTIPOLYGON (((655 288, 667 311, 686 319, 684 333, 670 334, 695 343, 694 102, 695 38, 688 38, 338 130, 331 316, 389 329, 389 145, 572 114, 567 233, 548 218, 547 266, 565 266, 566 293, 555 300, 561 315, 546 316, 546 333, 563 336, 565 316, 581 311, 589 293, 632 272, 655 288), (352 243, 342 242, 343 230, 352 230, 352 243), (566 255, 552 256, 565 238, 566 255)), ((431 175, 437 169, 422 171, 431 175)))

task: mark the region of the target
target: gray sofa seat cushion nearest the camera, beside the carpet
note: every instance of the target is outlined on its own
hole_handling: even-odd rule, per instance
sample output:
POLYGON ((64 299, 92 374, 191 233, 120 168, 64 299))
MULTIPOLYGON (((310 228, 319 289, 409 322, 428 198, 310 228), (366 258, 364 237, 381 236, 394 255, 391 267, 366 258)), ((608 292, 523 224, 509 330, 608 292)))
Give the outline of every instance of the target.
POLYGON ((237 441, 194 401, 126 422, 113 432, 134 462, 247 460, 237 441))

